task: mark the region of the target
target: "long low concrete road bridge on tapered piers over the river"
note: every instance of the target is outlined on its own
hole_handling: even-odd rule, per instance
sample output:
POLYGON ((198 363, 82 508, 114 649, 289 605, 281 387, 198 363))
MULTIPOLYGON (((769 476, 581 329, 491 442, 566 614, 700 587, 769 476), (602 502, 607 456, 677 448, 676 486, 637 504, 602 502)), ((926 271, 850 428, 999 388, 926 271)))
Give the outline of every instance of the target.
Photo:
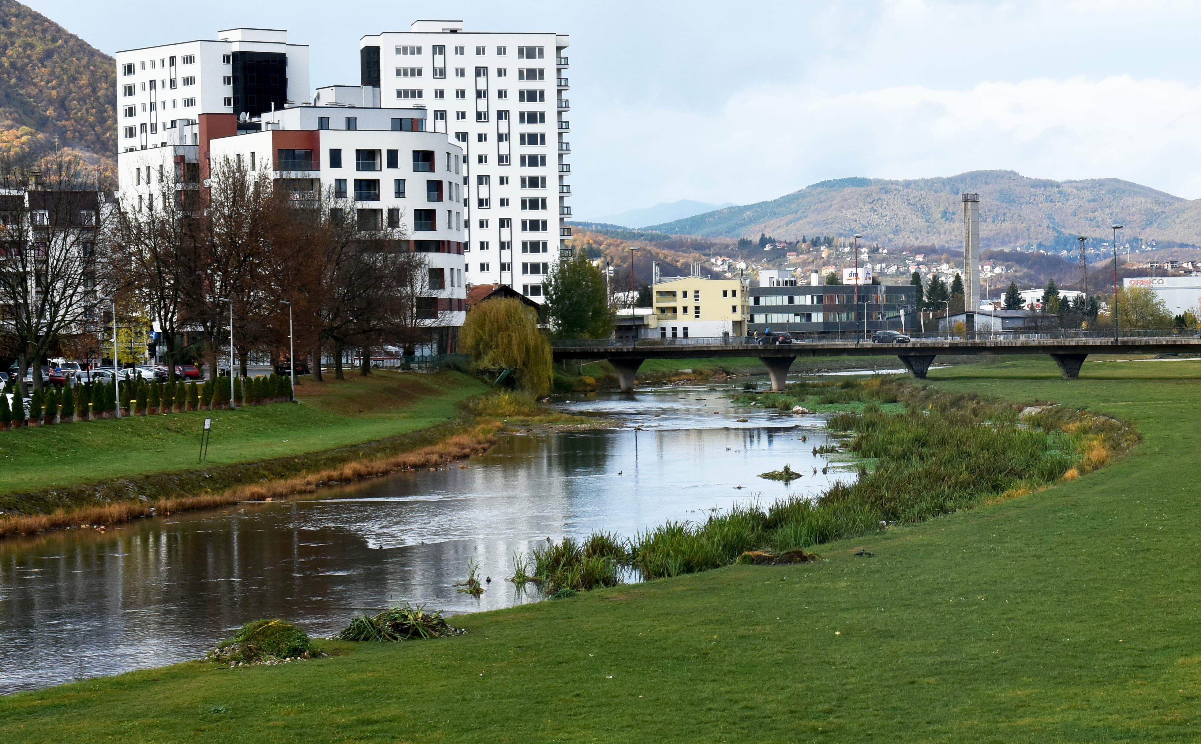
MULTIPOLYGON (((998 335, 999 336, 999 335, 998 335)), ((784 390, 788 368, 799 356, 896 356, 914 377, 924 379, 938 355, 1047 354, 1064 378, 1080 377, 1089 354, 1197 354, 1201 338, 1189 336, 1033 337, 1033 338, 914 338, 909 343, 805 340, 789 344, 758 344, 751 338, 649 338, 638 343, 622 340, 558 341, 555 361, 604 359, 617 370, 623 391, 634 389, 634 376, 647 359, 701 359, 758 356, 771 376, 771 389, 784 390)))

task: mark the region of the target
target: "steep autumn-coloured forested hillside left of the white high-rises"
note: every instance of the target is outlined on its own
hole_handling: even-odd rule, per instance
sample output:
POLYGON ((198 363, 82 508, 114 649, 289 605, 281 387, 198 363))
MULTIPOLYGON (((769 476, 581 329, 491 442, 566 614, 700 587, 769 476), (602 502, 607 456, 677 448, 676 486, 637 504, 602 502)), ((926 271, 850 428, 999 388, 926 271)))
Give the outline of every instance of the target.
POLYGON ((113 65, 113 58, 41 13, 0 0, 0 157, 36 155, 53 148, 58 136, 62 146, 112 170, 113 65))

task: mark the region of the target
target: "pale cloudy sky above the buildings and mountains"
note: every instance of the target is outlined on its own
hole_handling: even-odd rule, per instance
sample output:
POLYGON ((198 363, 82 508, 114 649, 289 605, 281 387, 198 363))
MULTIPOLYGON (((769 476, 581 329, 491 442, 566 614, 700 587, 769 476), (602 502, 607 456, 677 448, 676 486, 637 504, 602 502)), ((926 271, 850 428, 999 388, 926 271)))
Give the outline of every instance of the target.
POLYGON ((25 0, 101 50, 286 28, 313 85, 416 18, 572 36, 576 218, 1008 168, 1201 197, 1201 4, 25 0))

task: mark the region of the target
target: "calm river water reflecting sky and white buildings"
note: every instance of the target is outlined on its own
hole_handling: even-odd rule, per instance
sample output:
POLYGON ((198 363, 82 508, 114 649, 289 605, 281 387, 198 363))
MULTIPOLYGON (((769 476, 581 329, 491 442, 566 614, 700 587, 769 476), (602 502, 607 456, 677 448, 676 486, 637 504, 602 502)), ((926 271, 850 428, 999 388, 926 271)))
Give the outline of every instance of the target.
POLYGON ((560 407, 620 427, 506 433, 464 468, 0 544, 0 692, 196 659, 262 617, 327 636, 402 601, 452 613, 538 601, 504 577, 546 538, 632 536, 853 478, 820 473, 823 419, 736 409, 730 392, 602 394, 560 407), (758 478, 784 463, 805 476, 758 478), (454 586, 472 562, 491 577, 479 598, 454 586))

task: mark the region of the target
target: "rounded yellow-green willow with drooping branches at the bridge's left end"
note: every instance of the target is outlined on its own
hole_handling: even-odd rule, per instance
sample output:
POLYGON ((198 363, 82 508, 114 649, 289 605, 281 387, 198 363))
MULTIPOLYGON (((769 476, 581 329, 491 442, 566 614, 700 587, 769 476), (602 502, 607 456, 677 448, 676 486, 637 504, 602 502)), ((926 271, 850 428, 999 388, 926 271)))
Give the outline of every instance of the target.
POLYGON ((520 370, 524 390, 538 396, 550 392, 550 342, 538 329, 538 313, 521 300, 486 300, 473 307, 459 346, 476 358, 476 367, 520 370))

